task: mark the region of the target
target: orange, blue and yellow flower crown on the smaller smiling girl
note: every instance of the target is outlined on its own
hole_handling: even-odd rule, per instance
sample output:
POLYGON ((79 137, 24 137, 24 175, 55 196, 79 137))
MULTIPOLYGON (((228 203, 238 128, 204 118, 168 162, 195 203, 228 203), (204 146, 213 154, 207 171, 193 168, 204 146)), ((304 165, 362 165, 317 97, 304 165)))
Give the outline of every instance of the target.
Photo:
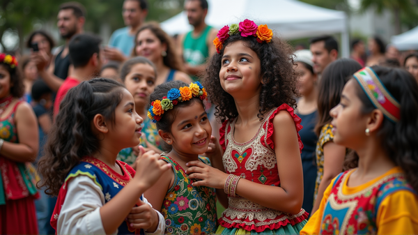
POLYGON ((165 111, 172 109, 179 102, 190 100, 193 97, 199 97, 201 100, 208 97, 208 93, 206 93, 206 90, 200 82, 192 82, 189 86, 183 86, 180 89, 171 89, 162 100, 154 100, 151 103, 147 116, 156 123, 160 121, 165 111))

